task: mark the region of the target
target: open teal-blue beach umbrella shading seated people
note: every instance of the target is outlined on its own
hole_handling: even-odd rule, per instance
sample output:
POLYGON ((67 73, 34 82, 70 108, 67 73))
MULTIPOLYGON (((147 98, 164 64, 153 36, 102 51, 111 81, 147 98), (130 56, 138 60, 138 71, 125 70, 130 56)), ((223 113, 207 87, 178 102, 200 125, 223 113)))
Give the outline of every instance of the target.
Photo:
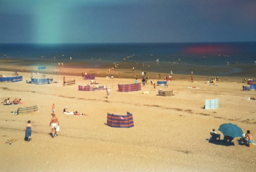
POLYGON ((243 131, 239 126, 231 123, 221 124, 218 130, 221 131, 224 136, 230 136, 233 138, 242 137, 243 134, 243 131))

